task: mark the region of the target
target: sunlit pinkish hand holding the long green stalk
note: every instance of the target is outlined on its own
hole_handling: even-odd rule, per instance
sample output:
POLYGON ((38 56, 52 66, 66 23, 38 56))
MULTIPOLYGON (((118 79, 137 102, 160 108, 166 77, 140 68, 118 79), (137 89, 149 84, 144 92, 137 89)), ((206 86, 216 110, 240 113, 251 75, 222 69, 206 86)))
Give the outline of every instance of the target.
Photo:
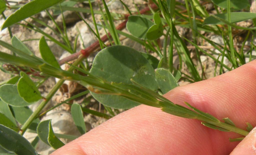
MULTIPOLYGON (((256 61, 208 80, 176 87, 167 99, 192 106, 237 127, 256 126, 256 61)), ((56 150, 56 154, 256 154, 256 130, 243 137, 207 128, 200 121, 180 118, 140 105, 121 113, 56 150), (236 149, 235 149, 236 148, 236 149)))

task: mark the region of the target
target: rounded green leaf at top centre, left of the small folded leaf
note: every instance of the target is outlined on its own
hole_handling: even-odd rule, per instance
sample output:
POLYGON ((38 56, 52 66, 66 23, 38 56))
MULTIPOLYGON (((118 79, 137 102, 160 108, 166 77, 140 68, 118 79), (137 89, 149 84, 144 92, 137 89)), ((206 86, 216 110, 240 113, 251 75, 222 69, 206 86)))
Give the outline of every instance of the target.
POLYGON ((147 39, 147 31, 153 25, 154 23, 147 18, 141 16, 129 16, 126 28, 134 37, 147 39))

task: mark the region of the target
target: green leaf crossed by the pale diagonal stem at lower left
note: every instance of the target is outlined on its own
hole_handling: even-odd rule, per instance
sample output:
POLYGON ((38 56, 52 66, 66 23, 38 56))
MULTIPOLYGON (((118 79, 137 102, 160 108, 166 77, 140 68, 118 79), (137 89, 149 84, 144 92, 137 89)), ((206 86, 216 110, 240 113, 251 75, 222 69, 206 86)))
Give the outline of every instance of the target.
MULTIPOLYGON (((22 125, 28 120, 29 116, 33 113, 33 111, 29 107, 11 106, 11 109, 12 109, 14 118, 22 125)), ((33 120, 33 122, 28 128, 30 130, 36 131, 36 128, 39 122, 40 120, 38 118, 33 120)))

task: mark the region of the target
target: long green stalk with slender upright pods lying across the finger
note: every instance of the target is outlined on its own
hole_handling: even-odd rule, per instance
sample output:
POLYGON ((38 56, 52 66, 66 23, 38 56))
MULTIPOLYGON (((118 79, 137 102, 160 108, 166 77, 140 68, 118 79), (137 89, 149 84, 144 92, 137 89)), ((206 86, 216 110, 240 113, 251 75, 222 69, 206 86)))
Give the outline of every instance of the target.
MULTIPOLYGON (((3 61, 5 63, 16 64, 19 66, 28 66, 35 70, 39 70, 42 73, 45 73, 54 77, 62 78, 63 80, 76 81, 81 85, 85 86, 91 92, 94 92, 97 94, 118 95, 126 99, 135 101, 139 104, 161 108, 162 111, 175 116, 190 118, 190 119, 197 119, 202 121, 202 124, 204 126, 212 129, 218 129, 220 131, 232 131, 232 132, 239 133, 240 135, 243 135, 243 136, 246 136, 249 133, 248 131, 242 130, 234 126, 232 123, 230 123, 231 120, 229 119, 224 119, 225 122, 222 122, 218 120, 216 117, 208 113, 202 112, 197 108, 189 105, 186 102, 185 104, 192 110, 184 106, 174 104, 173 102, 169 101, 168 99, 159 95, 158 93, 138 84, 133 79, 131 79, 132 84, 125 84, 123 82, 121 83, 108 82, 100 77, 94 76, 88 73, 87 71, 82 70, 81 68, 75 67, 74 65, 71 65, 72 69, 74 68, 78 69, 79 71, 82 71, 83 73, 86 73, 88 75, 82 76, 79 74, 74 74, 70 72, 71 69, 69 71, 65 71, 46 63, 38 64, 38 62, 35 60, 26 60, 18 56, 9 55, 3 52, 0 52, 0 61, 3 61)), ((47 98, 48 97, 49 96, 47 96, 47 98)), ((44 105, 46 103, 45 101, 43 101, 41 104, 44 105)), ((30 119, 28 120, 28 122, 33 121, 33 119, 35 119, 37 115, 38 113, 35 114, 34 116, 30 116, 30 119)), ((29 123, 26 123, 23 126, 22 130, 25 130, 28 127, 28 125, 29 123)))

